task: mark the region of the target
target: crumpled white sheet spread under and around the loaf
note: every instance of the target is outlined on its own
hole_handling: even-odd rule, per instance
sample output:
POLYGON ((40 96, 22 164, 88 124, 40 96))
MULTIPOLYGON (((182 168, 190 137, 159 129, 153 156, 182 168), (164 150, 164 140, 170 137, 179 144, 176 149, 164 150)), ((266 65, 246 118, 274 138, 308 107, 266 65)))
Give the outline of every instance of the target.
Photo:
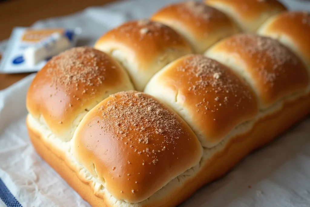
MULTIPOLYGON (((310 10, 306 1, 283 0, 291 9, 310 10)), ((108 29, 147 18, 169 2, 129 0, 92 7, 35 27, 81 27, 78 45, 93 45, 108 29)), ((0 43, 0 52, 5 43, 0 43)), ((34 151, 25 117, 25 97, 34 75, 0 91, 0 178, 23 206, 89 206, 34 151)), ((266 132, 268 133, 268 132, 266 132)), ((182 207, 310 206, 310 118, 270 145, 255 151, 218 181, 198 190, 182 207), (251 186, 249 188, 249 186, 251 186)), ((4 203, 0 200, 0 206, 4 203)))

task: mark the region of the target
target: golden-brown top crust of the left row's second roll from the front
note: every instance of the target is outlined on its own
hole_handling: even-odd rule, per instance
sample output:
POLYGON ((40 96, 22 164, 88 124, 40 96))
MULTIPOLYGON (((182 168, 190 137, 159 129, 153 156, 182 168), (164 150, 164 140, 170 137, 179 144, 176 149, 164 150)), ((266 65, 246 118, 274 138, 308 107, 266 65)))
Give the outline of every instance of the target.
MULTIPOLYGON (((186 41, 170 27, 150 20, 127 22, 108 31, 95 43, 95 48, 103 49, 103 44, 122 44, 133 50, 141 61, 141 70, 157 59, 167 49, 183 49, 190 52, 186 41)), ((114 47, 117 47, 116 45, 114 47)))

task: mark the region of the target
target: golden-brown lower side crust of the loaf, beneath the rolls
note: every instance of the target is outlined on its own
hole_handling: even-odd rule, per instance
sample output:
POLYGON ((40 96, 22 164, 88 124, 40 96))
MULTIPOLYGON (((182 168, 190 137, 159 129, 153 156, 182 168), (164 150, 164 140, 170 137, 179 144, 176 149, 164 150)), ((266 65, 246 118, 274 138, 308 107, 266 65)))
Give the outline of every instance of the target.
MULTIPOLYGON (((212 155, 205 156, 199 164, 182 175, 170 181, 160 193, 155 193, 148 200, 129 204, 116 201, 112 195, 94 193, 96 185, 83 178, 83 173, 77 173, 74 165, 69 166, 67 152, 60 150, 56 144, 46 142, 46 138, 32 124, 27 127, 30 140, 38 154, 54 168, 62 178, 78 194, 94 207, 127 207, 127 206, 176 206, 191 196, 197 189, 215 179, 222 177, 251 151, 264 146, 275 137, 285 132, 292 125, 302 120, 310 112, 310 95, 303 95, 294 100, 286 101, 275 112, 255 121, 246 133, 229 138, 224 146, 212 155)), ((204 149, 204 151, 210 151, 204 149)), ((78 169, 78 167, 76 167, 78 169)), ((105 189, 106 190, 106 189, 105 189)))

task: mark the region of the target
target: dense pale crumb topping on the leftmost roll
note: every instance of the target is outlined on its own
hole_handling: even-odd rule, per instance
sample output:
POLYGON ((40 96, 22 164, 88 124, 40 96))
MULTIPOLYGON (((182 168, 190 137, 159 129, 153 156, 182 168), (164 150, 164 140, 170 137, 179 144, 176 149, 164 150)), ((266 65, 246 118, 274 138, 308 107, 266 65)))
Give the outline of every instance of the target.
POLYGON ((98 86, 104 81, 106 61, 109 60, 104 53, 91 47, 74 47, 48 61, 47 75, 55 87, 62 85, 78 90, 79 83, 98 86))

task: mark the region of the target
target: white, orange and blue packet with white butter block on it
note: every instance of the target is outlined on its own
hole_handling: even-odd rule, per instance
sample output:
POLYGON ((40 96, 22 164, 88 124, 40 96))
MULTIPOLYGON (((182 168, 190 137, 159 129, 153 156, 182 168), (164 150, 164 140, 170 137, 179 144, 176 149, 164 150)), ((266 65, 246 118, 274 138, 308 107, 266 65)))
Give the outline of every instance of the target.
POLYGON ((75 46, 78 29, 15 27, 0 61, 0 73, 40 70, 52 56, 75 46))

